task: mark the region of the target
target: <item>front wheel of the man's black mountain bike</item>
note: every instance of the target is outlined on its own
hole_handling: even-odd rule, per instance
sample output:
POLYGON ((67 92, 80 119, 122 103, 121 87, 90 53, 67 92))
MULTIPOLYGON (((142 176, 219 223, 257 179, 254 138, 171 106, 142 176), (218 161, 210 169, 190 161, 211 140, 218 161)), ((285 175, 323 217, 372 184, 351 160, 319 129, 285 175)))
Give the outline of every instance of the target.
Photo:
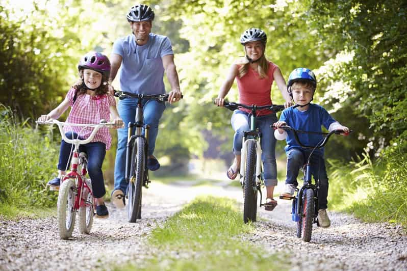
POLYGON ((145 144, 142 137, 138 137, 133 145, 132 160, 130 168, 130 182, 127 195, 129 202, 127 211, 129 222, 136 222, 141 213, 142 185, 145 165, 145 144))

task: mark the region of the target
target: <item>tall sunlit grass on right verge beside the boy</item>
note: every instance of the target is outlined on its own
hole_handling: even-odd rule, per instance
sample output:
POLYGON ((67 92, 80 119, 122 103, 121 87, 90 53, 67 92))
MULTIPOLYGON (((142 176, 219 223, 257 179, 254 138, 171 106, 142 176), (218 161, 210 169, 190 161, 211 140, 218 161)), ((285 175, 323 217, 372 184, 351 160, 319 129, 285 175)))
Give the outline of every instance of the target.
POLYGON ((347 166, 328 160, 334 180, 329 186, 329 205, 366 221, 407 225, 407 145, 403 143, 387 148, 376 161, 367 153, 347 166))

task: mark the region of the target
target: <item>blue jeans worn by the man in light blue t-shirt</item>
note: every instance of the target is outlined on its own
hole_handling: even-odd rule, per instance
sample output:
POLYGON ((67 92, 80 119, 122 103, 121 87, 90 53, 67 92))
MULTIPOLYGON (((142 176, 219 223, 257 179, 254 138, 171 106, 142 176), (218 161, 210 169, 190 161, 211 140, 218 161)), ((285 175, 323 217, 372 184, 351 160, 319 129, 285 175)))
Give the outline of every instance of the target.
MULTIPOLYGON (((127 182, 125 180, 125 164, 126 164, 126 145, 127 145, 127 125, 129 122, 134 123, 136 119, 137 98, 126 98, 119 101, 117 110, 124 123, 124 128, 117 130, 117 152, 114 167, 114 189, 121 189, 124 195, 127 190, 127 182)), ((152 155, 156 146, 156 138, 158 134, 158 124, 165 110, 165 103, 154 99, 143 99, 144 123, 150 126, 148 131, 148 155, 152 155)), ((133 130, 134 133, 134 130, 133 130)), ((143 129, 144 134, 144 129, 143 129)))

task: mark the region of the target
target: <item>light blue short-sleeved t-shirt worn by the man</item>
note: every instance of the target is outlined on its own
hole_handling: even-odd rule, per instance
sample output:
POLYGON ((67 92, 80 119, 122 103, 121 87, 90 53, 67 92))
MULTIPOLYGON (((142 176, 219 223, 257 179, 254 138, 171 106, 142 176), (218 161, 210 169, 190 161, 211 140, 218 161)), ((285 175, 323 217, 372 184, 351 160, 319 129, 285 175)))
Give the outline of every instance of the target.
POLYGON ((123 58, 119 71, 122 91, 165 93, 162 57, 174 54, 168 37, 150 33, 146 44, 136 46, 134 35, 128 35, 114 42, 112 53, 123 58))

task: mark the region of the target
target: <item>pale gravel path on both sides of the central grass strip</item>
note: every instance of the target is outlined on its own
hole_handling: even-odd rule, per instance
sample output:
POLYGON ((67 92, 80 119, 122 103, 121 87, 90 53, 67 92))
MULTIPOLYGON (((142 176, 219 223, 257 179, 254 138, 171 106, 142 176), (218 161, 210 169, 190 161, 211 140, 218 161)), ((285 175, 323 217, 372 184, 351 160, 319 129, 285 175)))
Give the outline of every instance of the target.
MULTIPOLYGON (((153 182, 143 192, 143 219, 138 223, 128 223, 124 209, 108 205, 109 219, 95 219, 91 234, 80 234, 77 224, 70 240, 60 240, 56 218, 0 221, 0 269, 109 269, 128 260, 137 264, 146 257, 142 253, 150 231, 199 194, 242 201, 241 189, 223 184, 153 182)), ((259 210, 255 233, 242 238, 268 252, 289 255, 291 270, 407 270, 405 229, 329 212, 332 226, 314 226, 311 242, 305 243, 295 237, 290 211, 290 202, 283 200, 272 212, 259 210)))

